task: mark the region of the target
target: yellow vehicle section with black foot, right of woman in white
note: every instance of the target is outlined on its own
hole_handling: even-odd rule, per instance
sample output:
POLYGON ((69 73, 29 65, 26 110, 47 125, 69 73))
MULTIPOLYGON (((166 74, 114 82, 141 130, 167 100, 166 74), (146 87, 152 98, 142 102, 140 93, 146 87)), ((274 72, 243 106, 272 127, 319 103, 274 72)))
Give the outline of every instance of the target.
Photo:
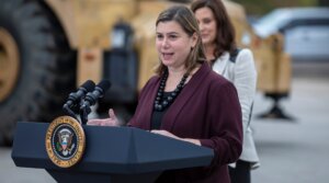
POLYGON ((280 107, 280 100, 291 91, 291 57, 284 52, 284 38, 280 33, 266 38, 259 37, 248 24, 243 7, 223 0, 236 28, 239 47, 249 47, 254 56, 258 70, 258 91, 273 100, 272 107, 259 115, 264 118, 293 119, 280 107))

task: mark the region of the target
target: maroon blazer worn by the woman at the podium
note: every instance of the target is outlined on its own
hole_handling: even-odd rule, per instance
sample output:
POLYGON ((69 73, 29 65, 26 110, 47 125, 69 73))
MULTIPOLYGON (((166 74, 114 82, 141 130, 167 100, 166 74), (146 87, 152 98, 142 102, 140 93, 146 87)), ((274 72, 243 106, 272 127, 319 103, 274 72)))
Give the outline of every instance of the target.
MULTIPOLYGON (((146 83, 129 126, 150 129, 159 83, 159 77, 146 83)), ((202 146, 214 149, 214 159, 205 168, 167 171, 157 182, 229 183, 227 164, 235 162, 242 149, 241 119, 235 87, 203 64, 169 106, 160 128, 182 138, 200 139, 202 146)))

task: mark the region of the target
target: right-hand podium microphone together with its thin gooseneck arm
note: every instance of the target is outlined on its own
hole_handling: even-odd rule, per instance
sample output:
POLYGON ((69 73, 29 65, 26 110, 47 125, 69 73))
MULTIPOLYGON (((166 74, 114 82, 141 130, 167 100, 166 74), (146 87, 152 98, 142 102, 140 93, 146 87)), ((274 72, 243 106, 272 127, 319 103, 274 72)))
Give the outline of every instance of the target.
POLYGON ((88 92, 83 102, 80 105, 80 118, 82 124, 88 121, 88 114, 91 112, 90 106, 94 105, 100 98, 103 98, 104 93, 110 89, 111 82, 102 80, 92 92, 88 92))

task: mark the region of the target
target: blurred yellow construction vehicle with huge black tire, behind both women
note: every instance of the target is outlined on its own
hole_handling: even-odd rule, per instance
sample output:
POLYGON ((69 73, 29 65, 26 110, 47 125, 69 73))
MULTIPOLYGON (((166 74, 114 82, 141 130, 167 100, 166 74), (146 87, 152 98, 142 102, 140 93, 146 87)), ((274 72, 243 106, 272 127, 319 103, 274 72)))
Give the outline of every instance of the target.
MULTIPOLYGON (((158 62, 158 13, 189 0, 0 0, 0 139, 10 142, 18 121, 50 122, 86 80, 109 79, 100 105, 131 114, 158 62)), ((240 47, 250 47, 259 90, 286 95, 290 59, 282 38, 258 38, 243 8, 225 1, 240 47)))

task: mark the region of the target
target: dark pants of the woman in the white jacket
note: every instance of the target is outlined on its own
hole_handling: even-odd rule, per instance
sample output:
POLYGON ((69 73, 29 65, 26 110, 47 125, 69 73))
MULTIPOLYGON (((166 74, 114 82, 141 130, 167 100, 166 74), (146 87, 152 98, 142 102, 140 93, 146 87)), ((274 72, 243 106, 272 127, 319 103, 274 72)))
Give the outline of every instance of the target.
POLYGON ((250 183, 250 162, 238 160, 236 168, 228 168, 231 183, 250 183))

